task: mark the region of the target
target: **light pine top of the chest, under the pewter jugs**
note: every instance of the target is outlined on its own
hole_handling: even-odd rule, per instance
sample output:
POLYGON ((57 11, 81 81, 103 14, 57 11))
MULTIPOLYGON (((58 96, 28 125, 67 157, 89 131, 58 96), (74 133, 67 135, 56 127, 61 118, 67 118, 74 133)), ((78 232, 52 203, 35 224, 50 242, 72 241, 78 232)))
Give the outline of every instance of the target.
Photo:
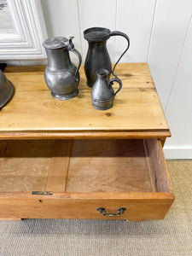
POLYGON ((0 138, 91 138, 171 136, 146 63, 118 64, 123 88, 113 108, 92 107, 84 68, 79 96, 55 100, 44 82, 44 66, 6 67, 15 95, 0 111, 0 138))

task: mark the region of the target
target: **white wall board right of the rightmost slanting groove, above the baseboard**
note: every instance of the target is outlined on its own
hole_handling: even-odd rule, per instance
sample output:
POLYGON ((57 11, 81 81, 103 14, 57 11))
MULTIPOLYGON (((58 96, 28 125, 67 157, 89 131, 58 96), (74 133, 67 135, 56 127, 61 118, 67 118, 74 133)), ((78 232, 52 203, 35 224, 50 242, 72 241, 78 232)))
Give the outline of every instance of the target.
MULTIPOLYGON (((172 133, 177 137, 172 137, 172 144, 180 144, 185 135, 184 127, 189 123, 192 113, 192 24, 186 38, 181 59, 177 67, 177 73, 172 85, 172 94, 166 108, 167 118, 172 119, 172 133), (189 54, 190 53, 190 54, 189 54), (189 93, 190 92, 190 93, 189 93), (177 109, 177 111, 176 111, 177 109), (179 120, 179 122, 178 122, 179 120)), ((192 126, 191 126, 192 128, 192 126)), ((192 132, 192 129, 191 129, 192 132)), ((170 144, 169 142, 168 144, 170 144)), ((192 145, 192 137, 184 139, 184 143, 192 145)))

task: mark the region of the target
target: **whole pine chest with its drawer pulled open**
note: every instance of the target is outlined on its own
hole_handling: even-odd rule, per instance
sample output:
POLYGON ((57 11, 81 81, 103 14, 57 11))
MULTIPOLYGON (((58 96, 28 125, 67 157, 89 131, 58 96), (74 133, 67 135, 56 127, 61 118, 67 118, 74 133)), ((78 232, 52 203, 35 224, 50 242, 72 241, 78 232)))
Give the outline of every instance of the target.
POLYGON ((163 154, 171 136, 148 64, 125 63, 113 108, 55 100, 44 66, 6 67, 15 94, 0 111, 0 218, 165 218, 174 201, 163 154))

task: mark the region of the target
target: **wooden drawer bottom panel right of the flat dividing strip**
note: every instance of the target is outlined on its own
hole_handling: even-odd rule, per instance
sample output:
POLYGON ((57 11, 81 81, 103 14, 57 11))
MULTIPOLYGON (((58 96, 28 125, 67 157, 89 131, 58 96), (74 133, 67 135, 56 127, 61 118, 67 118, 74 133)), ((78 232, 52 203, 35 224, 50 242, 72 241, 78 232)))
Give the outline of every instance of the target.
POLYGON ((75 140, 67 192, 151 192, 143 140, 75 140))

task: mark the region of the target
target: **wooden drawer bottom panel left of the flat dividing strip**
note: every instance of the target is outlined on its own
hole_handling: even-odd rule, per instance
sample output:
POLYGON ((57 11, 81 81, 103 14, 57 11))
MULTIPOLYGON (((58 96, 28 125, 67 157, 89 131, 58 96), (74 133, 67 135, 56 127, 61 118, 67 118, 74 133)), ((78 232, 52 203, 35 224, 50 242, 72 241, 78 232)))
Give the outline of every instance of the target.
POLYGON ((46 189, 54 140, 0 142, 0 191, 46 189))

